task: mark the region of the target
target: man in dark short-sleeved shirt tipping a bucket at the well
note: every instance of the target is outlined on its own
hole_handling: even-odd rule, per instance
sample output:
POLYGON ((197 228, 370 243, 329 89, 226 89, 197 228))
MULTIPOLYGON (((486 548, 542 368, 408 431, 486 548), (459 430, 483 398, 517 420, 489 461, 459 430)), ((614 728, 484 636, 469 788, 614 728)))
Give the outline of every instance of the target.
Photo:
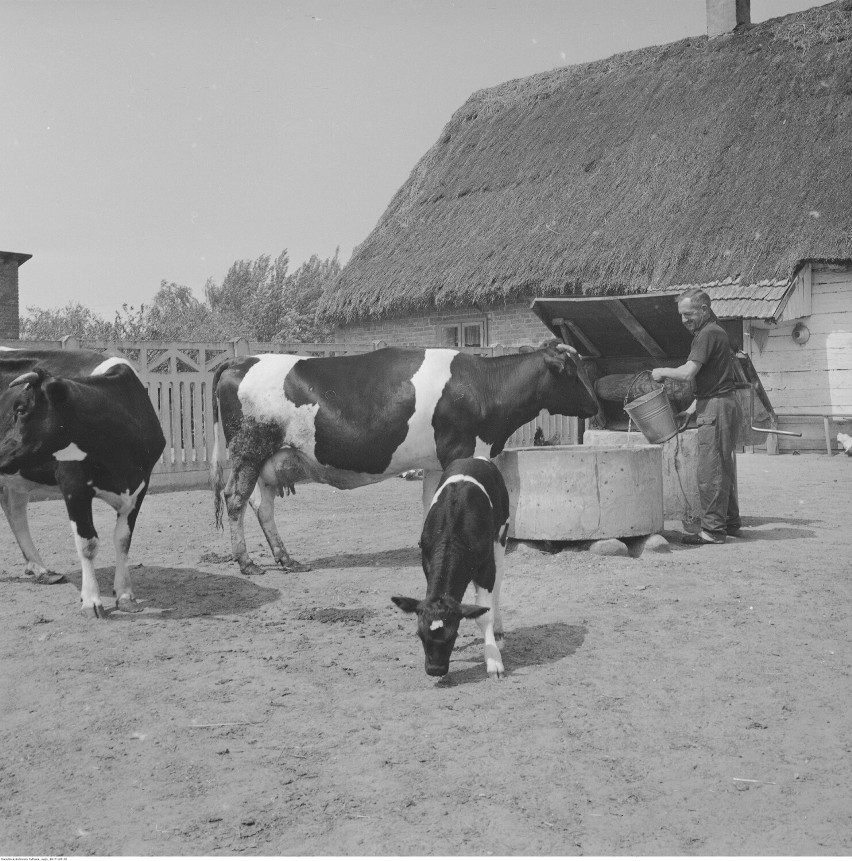
POLYGON ((698 497, 701 531, 685 535, 683 544, 724 544, 740 536, 734 448, 740 405, 734 385, 734 355, 725 330, 710 308, 710 297, 698 287, 685 290, 677 302, 683 325, 692 332, 689 358, 679 368, 654 368, 665 379, 695 383, 698 424, 698 497))

